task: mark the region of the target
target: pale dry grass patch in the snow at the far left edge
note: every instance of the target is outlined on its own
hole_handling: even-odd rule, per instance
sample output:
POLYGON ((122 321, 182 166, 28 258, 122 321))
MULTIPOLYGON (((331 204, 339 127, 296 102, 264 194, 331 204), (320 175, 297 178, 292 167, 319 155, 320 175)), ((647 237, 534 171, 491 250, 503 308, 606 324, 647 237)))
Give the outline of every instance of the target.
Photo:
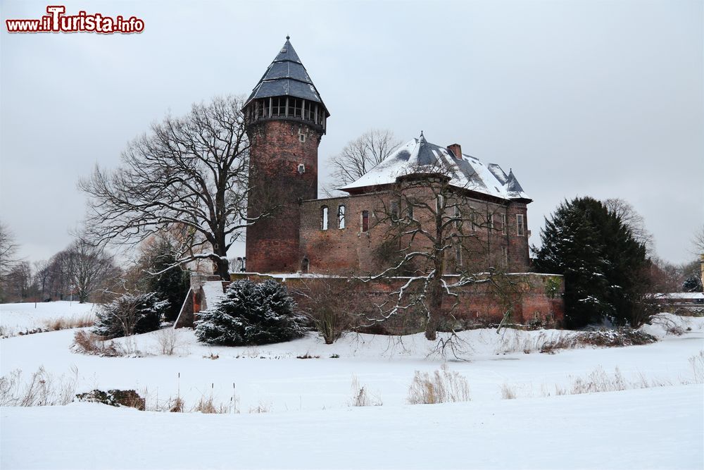
POLYGON ((32 373, 28 381, 22 380, 22 371, 15 370, 0 377, 0 406, 43 407, 73 402, 78 383, 78 369, 71 369, 70 376, 53 376, 44 367, 32 373))

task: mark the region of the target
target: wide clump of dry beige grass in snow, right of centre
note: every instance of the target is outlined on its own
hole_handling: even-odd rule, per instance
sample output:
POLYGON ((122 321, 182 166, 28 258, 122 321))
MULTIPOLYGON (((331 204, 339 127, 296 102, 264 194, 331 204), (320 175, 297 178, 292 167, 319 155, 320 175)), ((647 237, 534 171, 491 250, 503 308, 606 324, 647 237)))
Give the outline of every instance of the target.
POLYGON ((415 371, 413 383, 408 389, 408 403, 434 404, 470 401, 470 385, 459 373, 451 372, 447 364, 440 371, 415 371))

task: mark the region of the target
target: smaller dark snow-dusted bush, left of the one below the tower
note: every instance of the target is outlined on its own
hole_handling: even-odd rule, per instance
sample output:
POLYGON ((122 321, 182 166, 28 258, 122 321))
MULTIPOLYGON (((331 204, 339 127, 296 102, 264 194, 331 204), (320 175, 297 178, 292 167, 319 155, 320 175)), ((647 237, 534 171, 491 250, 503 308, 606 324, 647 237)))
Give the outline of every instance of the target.
POLYGON ((109 339, 158 330, 168 304, 153 293, 122 295, 97 311, 93 333, 109 339))

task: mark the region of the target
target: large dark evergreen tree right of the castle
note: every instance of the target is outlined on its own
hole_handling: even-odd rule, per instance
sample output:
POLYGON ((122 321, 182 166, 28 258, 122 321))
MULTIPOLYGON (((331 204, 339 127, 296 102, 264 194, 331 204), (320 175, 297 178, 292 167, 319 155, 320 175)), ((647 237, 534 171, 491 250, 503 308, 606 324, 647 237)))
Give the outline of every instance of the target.
POLYGON ((558 206, 541 230, 535 265, 565 276, 570 328, 608 319, 639 326, 648 319, 650 261, 618 214, 591 197, 558 206))

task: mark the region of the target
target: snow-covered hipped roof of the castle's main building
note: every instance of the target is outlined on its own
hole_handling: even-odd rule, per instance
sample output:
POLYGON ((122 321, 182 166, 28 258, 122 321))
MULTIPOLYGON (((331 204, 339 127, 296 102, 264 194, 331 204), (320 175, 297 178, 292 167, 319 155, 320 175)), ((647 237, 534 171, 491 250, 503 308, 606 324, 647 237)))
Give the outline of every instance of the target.
POLYGON ((513 171, 507 175, 496 163, 484 165, 470 155, 462 154, 462 158, 457 159, 445 147, 427 142, 422 132, 419 138, 409 140, 354 183, 339 189, 357 192, 365 187, 396 183, 400 176, 437 173, 439 169, 451 176, 450 184, 455 187, 501 199, 531 201, 513 171))

